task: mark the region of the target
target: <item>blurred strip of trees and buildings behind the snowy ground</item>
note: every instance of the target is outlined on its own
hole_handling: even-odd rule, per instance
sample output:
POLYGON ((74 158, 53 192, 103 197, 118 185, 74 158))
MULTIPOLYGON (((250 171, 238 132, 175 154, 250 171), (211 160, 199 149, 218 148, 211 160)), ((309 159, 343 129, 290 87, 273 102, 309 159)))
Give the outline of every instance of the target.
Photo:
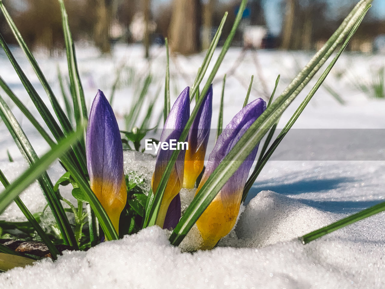
MULTIPOLYGON (((61 55, 64 49, 56 0, 3 0, 29 47, 61 55)), ((109 54, 115 43, 164 45, 184 55, 207 49, 225 11, 219 45, 229 34, 239 0, 65 0, 75 40, 109 54)), ((244 49, 317 50, 357 0, 249 0, 233 45, 244 49)), ((0 31, 12 44, 5 19, 0 31)), ((385 53, 385 1, 373 0, 348 50, 385 53)))

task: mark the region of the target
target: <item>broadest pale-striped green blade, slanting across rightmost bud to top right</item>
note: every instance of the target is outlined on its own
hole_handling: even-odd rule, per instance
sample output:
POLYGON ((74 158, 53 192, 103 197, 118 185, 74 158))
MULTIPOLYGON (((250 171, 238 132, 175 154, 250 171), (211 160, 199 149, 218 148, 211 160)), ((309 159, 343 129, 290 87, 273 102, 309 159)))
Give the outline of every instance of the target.
MULTIPOLYGON (((370 2, 370 1, 368 1, 370 2)), ((173 245, 179 245, 184 236, 189 232, 196 220, 208 207, 219 190, 223 187, 231 175, 243 163, 246 157, 261 139, 268 129, 273 126, 283 111, 295 99, 303 87, 310 81, 316 71, 325 63, 334 51, 336 46, 350 33, 357 20, 361 18, 367 7, 367 2, 360 2, 360 5, 353 9, 354 13, 349 15, 349 20, 344 21, 336 33, 326 42, 323 49, 318 52, 310 63, 305 66, 297 77, 289 84, 288 88, 274 101, 264 113, 251 124, 249 129, 243 134, 233 149, 226 155, 223 161, 213 171, 204 183, 203 187, 195 196, 176 228, 172 232, 169 240, 173 245)))

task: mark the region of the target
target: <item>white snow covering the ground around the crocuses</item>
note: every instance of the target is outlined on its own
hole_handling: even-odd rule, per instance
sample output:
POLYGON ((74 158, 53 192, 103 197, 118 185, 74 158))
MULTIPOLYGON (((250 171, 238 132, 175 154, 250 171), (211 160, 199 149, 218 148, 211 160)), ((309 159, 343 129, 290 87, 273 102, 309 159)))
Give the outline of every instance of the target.
MULTIPOLYGON (((90 47, 80 47, 77 51, 88 104, 97 88, 104 90, 106 95, 109 93, 109 87, 115 80, 115 70, 122 63, 135 67, 138 74, 151 69, 155 81, 150 87, 150 94, 155 94, 157 86, 163 83, 163 48, 152 50, 155 56, 150 65, 142 59, 142 48, 135 45, 119 45, 110 57, 99 57, 98 52, 90 47)), ((215 52, 213 59, 218 53, 215 52)), ((240 53, 238 49, 230 49, 218 77, 214 79, 212 127, 216 127, 217 123, 221 76, 231 69, 240 53)), ((15 55, 37 91, 47 100, 21 52, 15 49, 15 55)), ((203 57, 204 54, 178 56, 171 61, 172 101, 177 91, 182 91, 192 83, 203 57)), ((241 109, 251 74, 256 74, 256 80, 250 100, 264 96, 258 73, 267 80, 268 91, 273 89, 275 78, 281 73, 278 93, 295 76, 298 71, 296 63, 303 66, 310 57, 310 54, 300 52, 247 52, 236 72, 228 76, 226 81, 224 124, 241 109), (259 72, 254 64, 253 53, 256 53, 262 67, 259 72)), ((59 95, 56 65, 59 63, 64 72, 64 57, 47 59, 39 55, 37 60, 52 83, 54 92, 59 95)), ((352 79, 357 81, 357 77, 370 81, 368 67, 384 65, 384 55, 342 55, 326 82, 338 91, 346 105, 340 105, 321 87, 296 122, 295 128, 384 129, 385 101, 368 98, 354 89, 352 82, 352 79), (337 77, 339 72, 345 72, 341 78, 337 77)), ((17 75, 12 71, 9 62, 0 53, 1 76, 37 115, 17 75)), ((133 93, 133 87, 122 87, 116 92, 113 107, 121 126, 122 115, 131 108, 130 96, 133 93)), ((4 96, 2 91, 0 94, 4 96)), ((288 108, 278 125, 280 128, 304 96, 301 94, 288 108)), ((156 104, 159 113, 163 108, 162 102, 162 97, 159 97, 156 104)), ((47 144, 39 138, 27 119, 17 109, 14 110, 35 149, 42 155, 48 149, 47 144)), ((13 180, 27 165, 3 123, 0 123, 0 133, 3 136, 0 139, 0 168, 9 180, 13 180), (8 161, 7 149, 15 162, 8 161)), ((346 139, 346 142, 350 141, 352 139, 346 139)), ((189 242, 196 241, 194 236, 189 236, 181 247, 173 247, 167 240, 170 232, 154 226, 121 240, 104 242, 87 252, 66 251, 55 262, 45 259, 35 262, 33 266, 1 273, 0 288, 384 288, 385 213, 378 213, 306 245, 298 239, 312 230, 384 200, 383 145, 382 150, 375 148, 374 153, 378 157, 373 160, 374 149, 371 150, 371 141, 367 142, 368 146, 362 150, 353 151, 346 146, 347 160, 278 158, 269 161, 251 188, 246 205, 241 208, 238 223, 213 250, 183 252, 191 245, 189 242), (357 154, 361 156, 359 160, 355 159, 357 154)), ((295 148, 289 144, 282 146, 282 153, 285 154, 285 151, 301 147, 301 143, 297 143, 295 148)), ((310 153, 312 150, 316 148, 310 148, 310 153)), ((124 158, 125 173, 136 171, 149 185, 154 157, 125 152, 124 158)), ((64 170, 59 164, 54 164, 48 173, 55 182, 64 170)), ((71 199, 68 188, 62 188, 61 193, 71 199)), ((182 208, 191 201, 193 193, 187 190, 181 193, 182 208)), ((46 204, 36 183, 21 198, 33 213, 41 211, 46 204)), ((24 220, 24 217, 13 203, 1 215, 1 219, 24 220)))

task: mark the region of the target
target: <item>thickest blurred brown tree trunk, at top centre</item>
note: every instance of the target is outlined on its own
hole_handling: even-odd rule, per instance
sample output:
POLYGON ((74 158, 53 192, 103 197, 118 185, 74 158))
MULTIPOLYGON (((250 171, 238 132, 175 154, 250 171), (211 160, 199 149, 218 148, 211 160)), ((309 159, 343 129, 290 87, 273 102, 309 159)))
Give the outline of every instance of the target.
POLYGON ((198 52, 200 27, 200 1, 174 0, 169 30, 171 50, 185 55, 198 52))

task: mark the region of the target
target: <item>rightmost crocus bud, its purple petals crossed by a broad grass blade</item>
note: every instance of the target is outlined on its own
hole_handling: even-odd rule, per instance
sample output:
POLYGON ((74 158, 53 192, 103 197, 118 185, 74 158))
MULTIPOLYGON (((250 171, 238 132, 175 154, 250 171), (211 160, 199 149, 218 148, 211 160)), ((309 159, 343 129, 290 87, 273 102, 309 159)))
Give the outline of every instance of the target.
MULTIPOLYGON (((218 137, 214 149, 209 155, 206 170, 196 194, 223 158, 265 109, 266 102, 259 98, 249 103, 234 116, 218 137)), ((196 222, 203 238, 201 249, 212 249, 222 237, 226 236, 233 229, 241 205, 243 187, 257 151, 258 144, 255 144, 254 150, 239 166, 234 175, 224 184, 218 195, 216 195, 196 222)))

